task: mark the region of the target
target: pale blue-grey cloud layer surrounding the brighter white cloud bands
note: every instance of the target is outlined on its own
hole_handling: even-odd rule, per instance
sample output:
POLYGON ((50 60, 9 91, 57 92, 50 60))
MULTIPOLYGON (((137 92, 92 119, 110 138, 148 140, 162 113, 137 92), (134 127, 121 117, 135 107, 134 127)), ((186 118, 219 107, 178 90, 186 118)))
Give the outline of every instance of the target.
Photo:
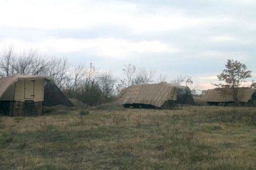
MULTIPOLYGON (((101 1, 100 1, 101 2, 101 1)), ((100 3, 97 2, 97 3, 100 3)), ((105 2, 105 1, 102 1, 105 2)), ((109 5, 111 6, 110 1, 109 5)), ((119 1, 121 3, 122 1, 119 1)), ((0 39, 16 38, 24 41, 40 41, 45 37, 71 39, 97 39, 114 37, 128 41, 160 41, 179 49, 177 53, 131 53, 127 59, 109 59, 95 56, 90 50, 76 53, 56 53, 59 56, 76 58, 79 62, 93 62, 101 69, 112 69, 122 73, 125 63, 139 67, 155 69, 158 73, 170 75, 191 74, 216 75, 224 69, 227 58, 242 59, 254 73, 256 62, 256 3, 245 4, 238 1, 123 1, 134 3, 138 7, 138 17, 154 16, 158 12, 167 14, 180 13, 184 17, 209 19, 191 27, 162 32, 136 33, 126 25, 101 24, 89 28, 77 29, 35 29, 35 28, 0 28, 0 39), (226 22, 223 22, 227 18, 226 22), (212 22, 211 19, 216 19, 212 22), (220 19, 220 22, 218 22, 220 19), (216 36, 234 37, 230 41, 212 41, 216 36), (209 53, 213 53, 209 55, 209 53), (243 59, 244 58, 244 59, 243 59)), ((105 3, 106 4, 106 3, 105 3)), ((123 18, 125 20, 126 18, 123 18)), ((82 22, 86 22, 82 21, 82 22)), ((39 47, 40 49, 40 47, 39 47)), ((114 50, 114 49, 113 49, 114 50)), ((255 78, 254 78, 255 79, 255 78)))

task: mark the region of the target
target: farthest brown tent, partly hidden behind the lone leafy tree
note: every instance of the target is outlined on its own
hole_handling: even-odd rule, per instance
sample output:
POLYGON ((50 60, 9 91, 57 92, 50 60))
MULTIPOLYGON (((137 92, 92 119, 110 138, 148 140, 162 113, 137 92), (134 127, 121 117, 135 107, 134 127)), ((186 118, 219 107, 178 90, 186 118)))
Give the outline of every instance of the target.
MULTIPOLYGON (((200 101, 207 102, 210 105, 218 105, 219 103, 234 103, 230 89, 214 88, 204 90, 201 94, 200 101)), ((238 101, 246 104, 256 100, 256 88, 241 87, 238 89, 238 101)))

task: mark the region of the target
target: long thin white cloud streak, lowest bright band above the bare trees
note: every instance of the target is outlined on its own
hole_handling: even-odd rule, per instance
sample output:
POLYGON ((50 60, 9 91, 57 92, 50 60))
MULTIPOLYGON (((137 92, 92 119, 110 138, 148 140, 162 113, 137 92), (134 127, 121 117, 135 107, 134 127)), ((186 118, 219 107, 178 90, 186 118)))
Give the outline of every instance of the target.
POLYGON ((114 39, 113 37, 106 39, 53 39, 43 42, 42 46, 52 48, 57 52, 75 52, 81 50, 90 50, 96 55, 123 58, 130 56, 131 53, 164 53, 176 52, 177 49, 159 41, 128 41, 123 39, 114 39))

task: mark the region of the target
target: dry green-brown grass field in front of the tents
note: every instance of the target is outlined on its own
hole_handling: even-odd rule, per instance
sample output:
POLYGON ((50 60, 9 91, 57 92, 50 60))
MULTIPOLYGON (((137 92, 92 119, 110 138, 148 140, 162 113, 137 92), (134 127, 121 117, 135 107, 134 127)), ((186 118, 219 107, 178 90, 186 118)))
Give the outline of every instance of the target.
POLYGON ((0 169, 256 169, 256 108, 1 116, 0 169))

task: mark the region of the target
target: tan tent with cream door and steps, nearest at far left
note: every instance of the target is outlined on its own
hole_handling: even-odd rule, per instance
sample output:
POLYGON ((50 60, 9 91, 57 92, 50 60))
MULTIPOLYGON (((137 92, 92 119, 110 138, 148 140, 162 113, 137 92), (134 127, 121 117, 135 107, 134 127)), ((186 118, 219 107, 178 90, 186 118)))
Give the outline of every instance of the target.
POLYGON ((47 76, 12 75, 0 79, 0 109, 6 115, 40 115, 44 105, 57 104, 73 106, 47 76))

